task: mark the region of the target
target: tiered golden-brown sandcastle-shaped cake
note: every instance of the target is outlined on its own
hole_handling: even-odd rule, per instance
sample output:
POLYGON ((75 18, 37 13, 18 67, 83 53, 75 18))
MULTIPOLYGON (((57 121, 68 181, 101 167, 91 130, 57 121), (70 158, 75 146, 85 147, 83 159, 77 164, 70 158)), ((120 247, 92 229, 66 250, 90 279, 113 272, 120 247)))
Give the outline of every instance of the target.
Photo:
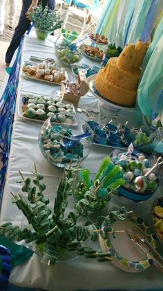
POLYGON ((140 78, 140 66, 148 43, 127 44, 117 58, 110 58, 95 78, 95 89, 106 99, 122 106, 133 106, 140 78))

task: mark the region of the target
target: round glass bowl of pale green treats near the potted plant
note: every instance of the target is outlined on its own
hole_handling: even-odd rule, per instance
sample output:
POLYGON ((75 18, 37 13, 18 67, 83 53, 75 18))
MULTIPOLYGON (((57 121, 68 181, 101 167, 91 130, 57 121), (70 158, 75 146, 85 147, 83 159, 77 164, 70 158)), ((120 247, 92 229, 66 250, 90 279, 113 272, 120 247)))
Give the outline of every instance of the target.
POLYGON ((83 57, 83 52, 80 49, 82 42, 79 42, 79 38, 73 40, 74 35, 69 34, 68 38, 64 37, 64 35, 60 35, 57 38, 55 42, 55 54, 64 65, 71 66, 79 63, 83 57))

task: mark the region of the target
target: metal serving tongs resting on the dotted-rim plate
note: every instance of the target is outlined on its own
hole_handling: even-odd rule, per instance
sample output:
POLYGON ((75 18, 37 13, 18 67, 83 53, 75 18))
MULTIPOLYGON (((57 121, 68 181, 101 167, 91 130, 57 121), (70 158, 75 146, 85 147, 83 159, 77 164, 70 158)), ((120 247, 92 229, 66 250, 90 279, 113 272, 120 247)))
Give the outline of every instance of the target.
POLYGON ((148 240, 146 240, 146 238, 144 237, 144 233, 139 228, 132 227, 130 229, 127 229, 127 234, 131 242, 140 247, 140 249, 142 249, 145 253, 150 252, 152 254, 154 263, 159 265, 163 272, 163 257, 148 242, 148 240))

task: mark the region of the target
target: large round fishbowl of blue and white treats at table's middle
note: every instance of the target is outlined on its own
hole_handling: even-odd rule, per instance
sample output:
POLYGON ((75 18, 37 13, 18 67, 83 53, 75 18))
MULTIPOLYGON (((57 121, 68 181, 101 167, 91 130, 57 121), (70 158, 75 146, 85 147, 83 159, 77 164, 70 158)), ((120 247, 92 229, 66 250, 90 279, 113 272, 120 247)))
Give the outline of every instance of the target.
MULTIPOLYGON (((93 136, 85 119, 77 117, 77 126, 61 123, 56 114, 44 122, 39 133, 39 149, 44 157, 57 167, 74 166, 90 153, 93 136)), ((63 122, 63 121, 62 121, 63 122)))

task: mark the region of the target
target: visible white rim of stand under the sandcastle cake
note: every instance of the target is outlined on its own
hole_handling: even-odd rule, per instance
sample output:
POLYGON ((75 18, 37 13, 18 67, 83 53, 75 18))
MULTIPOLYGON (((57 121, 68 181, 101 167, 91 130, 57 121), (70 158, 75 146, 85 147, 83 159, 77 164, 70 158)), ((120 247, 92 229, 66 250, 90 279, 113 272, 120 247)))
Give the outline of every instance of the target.
POLYGON ((109 101, 108 99, 106 99, 105 97, 102 97, 102 95, 100 95, 94 87, 94 81, 95 81, 95 75, 91 75, 87 78, 88 80, 88 85, 90 88, 90 91, 94 94, 95 97, 97 97, 97 99, 99 99, 99 103, 106 109, 110 110, 110 111, 119 111, 119 110, 125 110, 125 111, 134 111, 135 107, 130 107, 130 106, 120 106, 117 105, 111 101, 109 101))

